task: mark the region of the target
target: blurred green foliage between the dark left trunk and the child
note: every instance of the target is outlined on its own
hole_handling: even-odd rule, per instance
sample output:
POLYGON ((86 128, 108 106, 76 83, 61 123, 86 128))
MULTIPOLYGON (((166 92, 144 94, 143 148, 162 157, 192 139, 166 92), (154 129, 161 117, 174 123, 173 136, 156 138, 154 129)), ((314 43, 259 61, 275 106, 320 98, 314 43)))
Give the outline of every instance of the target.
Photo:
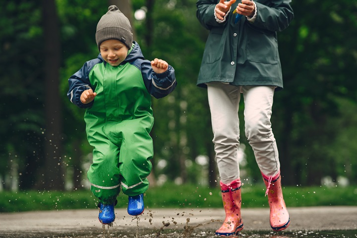
POLYGON ((92 147, 86 139, 84 112, 69 102, 68 78, 99 50, 95 42, 97 23, 108 10, 106 1, 58 0, 62 68, 60 92, 63 104, 63 145, 67 189, 80 189, 87 181, 92 147))

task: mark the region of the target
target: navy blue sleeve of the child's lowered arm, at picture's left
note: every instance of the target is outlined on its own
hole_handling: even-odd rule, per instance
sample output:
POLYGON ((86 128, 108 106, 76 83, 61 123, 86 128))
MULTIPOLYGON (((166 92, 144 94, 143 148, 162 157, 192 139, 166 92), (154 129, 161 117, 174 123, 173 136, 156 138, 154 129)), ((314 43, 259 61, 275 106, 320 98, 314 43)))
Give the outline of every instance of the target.
POLYGON ((89 108, 93 105, 93 102, 83 104, 80 101, 81 94, 88 89, 92 88, 89 81, 89 72, 96 63, 99 63, 99 59, 90 60, 84 63, 83 67, 79 69, 75 74, 68 79, 69 90, 67 93, 68 99, 80 108, 89 108))

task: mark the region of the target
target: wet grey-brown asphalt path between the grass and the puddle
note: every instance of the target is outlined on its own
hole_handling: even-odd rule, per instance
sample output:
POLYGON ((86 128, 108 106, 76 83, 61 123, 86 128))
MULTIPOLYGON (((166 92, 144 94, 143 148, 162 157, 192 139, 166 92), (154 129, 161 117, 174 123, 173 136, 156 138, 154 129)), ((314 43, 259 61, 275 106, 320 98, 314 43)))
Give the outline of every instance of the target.
MULTIPOLYGON (((286 231, 356 230, 357 206, 325 206, 288 208, 291 225, 286 231)), ((271 231, 269 208, 241 210, 244 231, 271 231)), ((222 209, 145 209, 137 221, 126 209, 116 209, 116 221, 110 229, 119 231, 159 231, 163 223, 170 223, 165 229, 182 231, 189 218, 189 226, 208 223, 196 228, 214 232, 224 220, 222 209)), ((98 210, 61 210, 0 213, 0 237, 39 237, 36 234, 97 234, 102 231, 98 221, 98 210), (17 235, 16 235, 17 234, 17 235), (23 234, 23 236, 19 236, 23 234), (27 235, 26 235, 27 234, 27 235), (29 235, 31 234, 31 236, 29 235), (13 235, 13 236, 12 236, 13 235), (16 235, 16 236, 15 236, 16 235)), ((67 236, 67 235, 66 235, 67 236)))

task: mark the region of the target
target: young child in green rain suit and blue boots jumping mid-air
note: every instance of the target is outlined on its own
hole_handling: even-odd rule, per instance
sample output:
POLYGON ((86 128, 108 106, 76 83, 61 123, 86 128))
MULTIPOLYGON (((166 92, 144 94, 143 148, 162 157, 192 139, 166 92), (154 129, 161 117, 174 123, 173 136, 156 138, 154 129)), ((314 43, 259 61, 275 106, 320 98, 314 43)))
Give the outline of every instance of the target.
POLYGON ((87 139, 94 147, 88 179, 99 199, 100 222, 111 224, 120 185, 128 195, 128 214, 144 211, 153 158, 151 95, 165 97, 177 82, 166 61, 144 59, 129 20, 115 5, 98 22, 96 42, 98 58, 69 78, 67 96, 86 108, 87 139))

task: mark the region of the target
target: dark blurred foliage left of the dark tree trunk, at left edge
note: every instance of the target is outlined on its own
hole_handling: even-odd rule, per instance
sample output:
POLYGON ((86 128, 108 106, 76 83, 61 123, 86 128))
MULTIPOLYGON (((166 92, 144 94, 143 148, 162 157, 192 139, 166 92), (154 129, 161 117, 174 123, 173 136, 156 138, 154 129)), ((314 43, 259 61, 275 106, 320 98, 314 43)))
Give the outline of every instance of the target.
POLYGON ((39 0, 0 2, 0 175, 5 189, 35 186, 44 163, 39 5, 39 0))

